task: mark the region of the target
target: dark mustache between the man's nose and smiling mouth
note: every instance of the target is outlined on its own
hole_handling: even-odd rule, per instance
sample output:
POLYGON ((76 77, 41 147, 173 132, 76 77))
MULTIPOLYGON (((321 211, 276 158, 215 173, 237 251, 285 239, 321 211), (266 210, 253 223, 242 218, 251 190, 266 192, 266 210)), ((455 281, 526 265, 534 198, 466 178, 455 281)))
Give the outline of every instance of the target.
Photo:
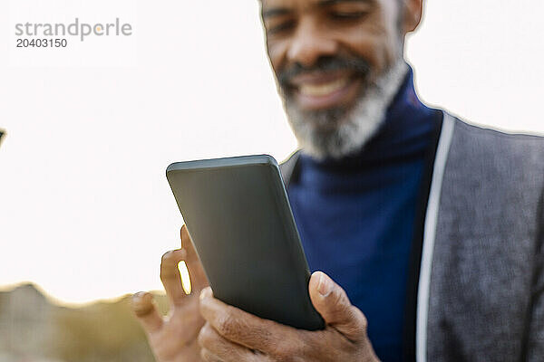
POLYGON ((305 67, 296 62, 290 67, 277 73, 277 81, 282 88, 287 89, 291 79, 294 77, 315 71, 354 71, 365 77, 370 72, 370 64, 364 58, 341 58, 341 57, 322 57, 319 58, 315 65, 305 67))

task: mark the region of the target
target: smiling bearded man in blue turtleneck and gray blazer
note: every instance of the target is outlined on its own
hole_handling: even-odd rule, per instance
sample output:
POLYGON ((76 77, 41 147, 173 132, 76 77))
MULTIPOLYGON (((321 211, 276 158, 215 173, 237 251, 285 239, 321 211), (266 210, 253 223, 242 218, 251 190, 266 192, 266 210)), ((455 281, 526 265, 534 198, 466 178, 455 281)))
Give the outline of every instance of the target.
POLYGON ((422 0, 261 5, 300 145, 282 173, 326 328, 214 299, 184 227, 160 267, 169 319, 151 294, 133 298, 157 359, 544 360, 543 139, 418 100, 403 47, 422 0))

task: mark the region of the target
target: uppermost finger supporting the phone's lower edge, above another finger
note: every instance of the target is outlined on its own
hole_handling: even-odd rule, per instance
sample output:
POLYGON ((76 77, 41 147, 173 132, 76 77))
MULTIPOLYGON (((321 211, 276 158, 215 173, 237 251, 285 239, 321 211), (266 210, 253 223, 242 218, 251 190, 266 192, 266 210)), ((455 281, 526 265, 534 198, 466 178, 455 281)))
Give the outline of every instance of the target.
POLYGON ((296 345, 299 340, 296 329, 229 306, 213 298, 209 288, 200 294, 200 314, 224 338, 270 356, 282 355, 285 341, 296 345))

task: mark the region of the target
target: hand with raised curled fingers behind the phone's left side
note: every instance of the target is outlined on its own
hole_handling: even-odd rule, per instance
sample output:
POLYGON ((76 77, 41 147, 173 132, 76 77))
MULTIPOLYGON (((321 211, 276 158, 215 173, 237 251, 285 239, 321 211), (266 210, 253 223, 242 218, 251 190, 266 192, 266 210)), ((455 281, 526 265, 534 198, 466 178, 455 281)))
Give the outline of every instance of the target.
POLYGON ((159 362, 200 361, 197 343, 204 319, 199 314, 199 292, 208 280, 190 240, 187 227, 181 228, 181 249, 170 251, 160 262, 160 281, 170 301, 170 313, 163 319, 150 293, 132 297, 132 308, 145 330, 153 354, 159 362), (185 261, 190 273, 192 291, 183 291, 178 263, 185 261))

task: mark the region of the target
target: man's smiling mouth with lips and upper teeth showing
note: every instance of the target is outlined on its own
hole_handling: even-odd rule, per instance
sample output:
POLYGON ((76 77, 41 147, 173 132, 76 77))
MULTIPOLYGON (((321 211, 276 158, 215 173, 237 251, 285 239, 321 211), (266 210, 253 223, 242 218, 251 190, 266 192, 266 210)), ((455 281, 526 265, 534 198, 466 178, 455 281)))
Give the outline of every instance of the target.
POLYGON ((308 73, 290 82, 296 102, 303 110, 325 110, 355 100, 362 77, 354 73, 308 73))

